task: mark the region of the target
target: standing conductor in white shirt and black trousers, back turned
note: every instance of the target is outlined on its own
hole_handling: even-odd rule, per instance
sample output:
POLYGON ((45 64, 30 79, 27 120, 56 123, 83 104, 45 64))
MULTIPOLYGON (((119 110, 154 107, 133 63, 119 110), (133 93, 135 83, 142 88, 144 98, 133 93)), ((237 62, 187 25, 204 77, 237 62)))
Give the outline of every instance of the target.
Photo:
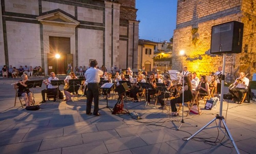
POLYGON ((87 90, 87 103, 86 114, 91 115, 92 101, 94 99, 94 111, 93 115, 99 116, 99 82, 100 75, 103 75, 103 71, 96 69, 98 62, 96 60, 91 61, 90 68, 84 73, 86 81, 88 83, 87 90))

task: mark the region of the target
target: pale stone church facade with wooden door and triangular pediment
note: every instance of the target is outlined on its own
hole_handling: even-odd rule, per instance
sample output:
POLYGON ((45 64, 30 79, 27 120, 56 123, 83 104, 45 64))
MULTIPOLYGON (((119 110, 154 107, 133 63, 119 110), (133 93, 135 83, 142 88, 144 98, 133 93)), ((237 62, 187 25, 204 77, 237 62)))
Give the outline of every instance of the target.
POLYGON ((68 63, 96 59, 108 70, 138 69, 135 0, 1 0, 0 9, 0 65, 65 74, 68 63))

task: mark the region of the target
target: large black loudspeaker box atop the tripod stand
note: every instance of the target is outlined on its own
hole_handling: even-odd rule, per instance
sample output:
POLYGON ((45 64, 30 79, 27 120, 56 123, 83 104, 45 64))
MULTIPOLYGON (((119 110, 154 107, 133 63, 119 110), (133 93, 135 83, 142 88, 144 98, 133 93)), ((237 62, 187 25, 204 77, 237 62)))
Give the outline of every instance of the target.
POLYGON ((241 53, 244 24, 238 21, 211 27, 210 53, 241 53))

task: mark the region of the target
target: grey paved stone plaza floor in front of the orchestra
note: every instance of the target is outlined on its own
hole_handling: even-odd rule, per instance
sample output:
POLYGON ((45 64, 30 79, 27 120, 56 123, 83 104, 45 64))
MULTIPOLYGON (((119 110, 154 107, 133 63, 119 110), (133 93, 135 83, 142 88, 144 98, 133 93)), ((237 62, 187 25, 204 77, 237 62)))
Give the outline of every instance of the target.
MULTIPOLYGON (((204 129, 195 138, 183 140, 214 119, 219 114, 220 104, 217 109, 208 111, 200 101, 202 115, 184 117, 185 123, 177 130, 180 123, 175 120, 181 120, 181 116, 168 117, 166 110, 145 107, 144 99, 125 103, 129 112, 140 115, 140 120, 129 114, 112 115, 108 108, 100 109, 98 117, 86 115, 86 97, 75 98, 74 102, 51 100, 40 104, 39 111, 26 111, 18 100, 14 107, 15 90, 11 85, 14 82, 16 80, 0 79, 1 153, 236 153, 231 141, 217 128, 204 129), (204 140, 217 140, 217 143, 207 144, 204 140)), ((40 92, 44 88, 31 90, 36 104, 41 101, 40 92)), ((253 92, 255 94, 255 90, 253 92)), ((110 98, 109 106, 116 102, 115 96, 113 100, 110 98)), ((99 104, 104 107, 106 101, 100 97, 99 104)), ((225 100, 223 116, 240 153, 255 153, 255 103, 238 105, 225 100)), ((214 125, 216 122, 211 124, 214 125)))

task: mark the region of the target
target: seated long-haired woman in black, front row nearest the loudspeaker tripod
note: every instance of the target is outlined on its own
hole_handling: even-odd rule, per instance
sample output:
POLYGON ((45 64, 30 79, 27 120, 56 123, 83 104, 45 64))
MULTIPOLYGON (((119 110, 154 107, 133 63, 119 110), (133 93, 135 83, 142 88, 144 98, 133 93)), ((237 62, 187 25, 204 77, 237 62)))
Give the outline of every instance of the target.
MULTIPOLYGON (((181 79, 181 81, 183 82, 183 78, 181 79)), ((184 102, 191 101, 191 99, 192 99, 191 82, 190 82, 188 76, 184 77, 184 94, 183 94, 182 89, 179 90, 178 85, 175 85, 175 89, 180 94, 180 96, 175 99, 170 100, 170 107, 172 109, 172 113, 170 114, 171 116, 179 116, 179 114, 177 112, 177 108, 176 108, 176 103, 182 103, 183 95, 184 95, 184 102)))

